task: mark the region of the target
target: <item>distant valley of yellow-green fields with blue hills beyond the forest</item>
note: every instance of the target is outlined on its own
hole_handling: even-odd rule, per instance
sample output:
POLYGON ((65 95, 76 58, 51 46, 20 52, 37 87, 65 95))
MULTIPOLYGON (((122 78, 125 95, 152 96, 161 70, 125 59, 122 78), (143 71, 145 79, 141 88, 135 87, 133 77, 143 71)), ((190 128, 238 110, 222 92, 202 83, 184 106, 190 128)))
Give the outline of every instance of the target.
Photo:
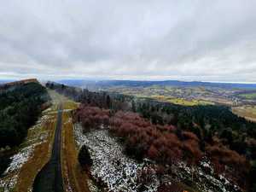
POLYGON ((88 90, 105 90, 186 106, 216 103, 237 107, 256 104, 256 100, 253 99, 255 84, 128 80, 62 80, 61 82, 88 90))

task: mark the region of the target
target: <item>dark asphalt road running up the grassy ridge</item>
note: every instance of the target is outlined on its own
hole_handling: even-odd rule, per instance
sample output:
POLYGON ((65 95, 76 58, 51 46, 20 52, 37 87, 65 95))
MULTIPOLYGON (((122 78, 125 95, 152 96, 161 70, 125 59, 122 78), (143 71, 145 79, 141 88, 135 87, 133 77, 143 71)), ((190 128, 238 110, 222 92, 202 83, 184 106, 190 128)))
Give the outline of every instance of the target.
POLYGON ((55 141, 49 162, 38 172, 33 183, 33 192, 63 192, 61 174, 61 121, 62 104, 59 105, 55 129, 55 141))

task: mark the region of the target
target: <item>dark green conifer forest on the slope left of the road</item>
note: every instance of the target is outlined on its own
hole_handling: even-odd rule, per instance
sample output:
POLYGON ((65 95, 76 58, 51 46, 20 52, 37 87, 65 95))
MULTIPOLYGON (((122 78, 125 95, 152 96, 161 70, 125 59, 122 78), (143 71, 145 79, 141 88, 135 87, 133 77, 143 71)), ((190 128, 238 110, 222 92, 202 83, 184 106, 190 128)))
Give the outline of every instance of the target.
POLYGON ((19 145, 49 100, 38 83, 19 84, 0 92, 0 148, 19 145))

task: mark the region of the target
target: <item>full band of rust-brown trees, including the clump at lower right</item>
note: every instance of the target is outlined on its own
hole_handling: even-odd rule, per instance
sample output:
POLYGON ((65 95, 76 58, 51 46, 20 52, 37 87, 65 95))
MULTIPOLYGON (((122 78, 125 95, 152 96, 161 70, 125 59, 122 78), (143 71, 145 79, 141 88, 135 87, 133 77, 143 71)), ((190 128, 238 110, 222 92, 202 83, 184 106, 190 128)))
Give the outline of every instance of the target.
POLYGON ((126 154, 137 160, 148 158, 163 166, 172 166, 183 160, 196 166, 207 155, 216 173, 225 172, 245 187, 244 177, 247 177, 249 168, 246 158, 217 141, 207 143, 201 149, 200 139, 191 131, 178 129, 175 125, 154 125, 138 113, 113 113, 86 104, 76 110, 74 120, 83 125, 84 131, 108 127, 115 137, 121 138, 126 154))

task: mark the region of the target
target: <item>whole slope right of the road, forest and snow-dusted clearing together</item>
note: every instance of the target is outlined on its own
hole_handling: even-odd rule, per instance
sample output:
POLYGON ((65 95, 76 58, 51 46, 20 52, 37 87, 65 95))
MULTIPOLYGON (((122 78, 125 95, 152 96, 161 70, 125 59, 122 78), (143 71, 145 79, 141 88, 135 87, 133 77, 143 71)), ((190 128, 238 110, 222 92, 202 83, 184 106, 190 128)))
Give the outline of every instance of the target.
POLYGON ((255 124, 239 118, 230 108, 218 105, 186 107, 106 91, 91 92, 64 84, 49 83, 47 86, 83 103, 74 119, 82 128, 75 134, 79 146, 86 143, 96 162, 90 170, 96 186, 103 182, 103 189, 113 188, 113 191, 122 188, 128 191, 126 188, 130 184, 144 185, 143 189, 132 188, 134 191, 253 191, 255 124), (107 146, 116 148, 113 156, 108 156, 113 148, 107 146), (99 150, 102 152, 97 153, 99 150), (122 171, 119 163, 127 164, 119 162, 116 165, 114 160, 119 158, 135 160, 133 166, 137 168, 123 167, 122 171), (102 160, 107 161, 100 164, 102 160), (117 171, 111 176, 113 167, 117 171), (147 180, 141 180, 139 175, 131 177, 128 173, 119 175, 121 172, 138 174, 141 169, 151 172, 143 173, 147 180), (164 177, 159 177, 157 172, 164 177), (176 175, 177 172, 180 174, 176 175), (110 176, 113 180, 108 179, 110 176), (118 177, 138 180, 119 185, 115 180, 118 177), (148 182, 154 187, 149 187, 148 182))

